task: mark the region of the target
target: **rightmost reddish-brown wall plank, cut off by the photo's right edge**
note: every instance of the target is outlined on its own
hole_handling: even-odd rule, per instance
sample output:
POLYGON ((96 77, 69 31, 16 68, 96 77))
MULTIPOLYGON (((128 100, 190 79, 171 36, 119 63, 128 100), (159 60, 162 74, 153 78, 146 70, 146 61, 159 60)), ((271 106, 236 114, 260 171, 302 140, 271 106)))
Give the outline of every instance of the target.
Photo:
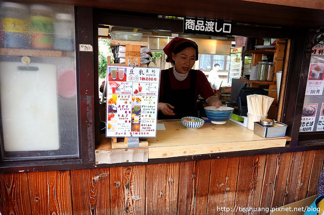
POLYGON ((324 167, 324 150, 316 150, 310 171, 307 197, 316 195, 318 192, 318 179, 324 167))

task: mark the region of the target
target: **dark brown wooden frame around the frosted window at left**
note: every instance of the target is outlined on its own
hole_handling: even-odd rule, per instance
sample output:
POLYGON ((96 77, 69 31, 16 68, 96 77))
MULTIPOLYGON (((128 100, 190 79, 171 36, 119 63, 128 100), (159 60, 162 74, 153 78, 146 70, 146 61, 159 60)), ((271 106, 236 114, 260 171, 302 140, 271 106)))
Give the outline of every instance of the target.
MULTIPOLYGON (((0 173, 15 171, 77 169, 93 167, 95 162, 94 53, 79 52, 78 44, 93 45, 93 9, 74 7, 78 157, 37 158, 0 161, 0 173), (82 29, 82 30, 81 30, 82 29)), ((98 85, 98 84, 97 84, 98 85)))

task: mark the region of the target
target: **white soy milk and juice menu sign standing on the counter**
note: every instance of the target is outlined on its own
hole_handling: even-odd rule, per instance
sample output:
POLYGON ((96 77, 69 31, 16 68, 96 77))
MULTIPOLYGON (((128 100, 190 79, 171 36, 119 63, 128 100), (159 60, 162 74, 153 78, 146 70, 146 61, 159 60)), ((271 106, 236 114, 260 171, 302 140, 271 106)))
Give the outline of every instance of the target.
POLYGON ((106 137, 155 137, 159 68, 107 67, 106 137))

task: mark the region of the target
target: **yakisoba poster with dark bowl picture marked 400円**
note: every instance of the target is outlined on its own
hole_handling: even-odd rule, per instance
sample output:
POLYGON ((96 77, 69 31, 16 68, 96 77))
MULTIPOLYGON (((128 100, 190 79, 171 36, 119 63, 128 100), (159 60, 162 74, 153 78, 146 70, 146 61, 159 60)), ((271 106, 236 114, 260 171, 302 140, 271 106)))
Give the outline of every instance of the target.
POLYGON ((299 132, 313 132, 318 104, 304 104, 299 132))

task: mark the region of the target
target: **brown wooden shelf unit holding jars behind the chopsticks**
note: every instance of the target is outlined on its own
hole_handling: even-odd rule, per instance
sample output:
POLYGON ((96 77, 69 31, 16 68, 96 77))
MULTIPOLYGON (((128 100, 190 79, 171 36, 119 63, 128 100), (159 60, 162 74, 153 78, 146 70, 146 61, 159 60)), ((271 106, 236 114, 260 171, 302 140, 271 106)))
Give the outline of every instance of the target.
POLYGON ((274 64, 274 77, 273 81, 258 81, 258 80, 248 80, 248 79, 238 79, 239 81, 245 81, 250 83, 251 88, 258 88, 260 84, 269 84, 268 96, 274 98, 272 106, 268 112, 268 118, 276 118, 277 115, 277 84, 276 84, 276 75, 275 73, 282 70, 282 65, 284 64, 285 57, 285 47, 286 39, 277 38, 275 49, 258 49, 258 50, 249 50, 246 53, 252 53, 252 62, 253 66, 259 64, 262 61, 262 55, 271 55, 273 54, 274 64))

